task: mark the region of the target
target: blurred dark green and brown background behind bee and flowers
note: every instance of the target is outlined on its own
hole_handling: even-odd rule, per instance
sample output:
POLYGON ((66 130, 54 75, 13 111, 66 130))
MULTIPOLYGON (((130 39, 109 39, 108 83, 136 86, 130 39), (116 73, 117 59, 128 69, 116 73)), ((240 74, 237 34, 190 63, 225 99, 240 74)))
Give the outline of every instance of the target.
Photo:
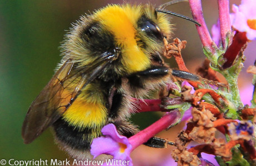
MULTIPOLYGON (((159 6, 167 1, 138 3, 146 2, 159 6)), ((0 159, 67 158, 54 144, 49 129, 31 144, 23 144, 22 122, 29 105, 51 79, 61 59, 58 47, 71 23, 80 15, 108 3, 123 1, 0 1, 0 159)), ((210 28, 218 19, 217 4, 216 1, 203 1, 203 5, 210 28)), ((168 9, 191 17, 188 3, 175 4, 168 9)), ((188 68, 194 71, 204 60, 195 25, 180 18, 172 20, 176 24, 174 37, 188 41, 183 56, 188 68)), ((255 51, 255 48, 248 50, 255 51)), ((175 66, 171 61, 169 64, 175 66)), ((155 115, 143 113, 134 116, 133 120, 144 128, 160 117, 155 115)))

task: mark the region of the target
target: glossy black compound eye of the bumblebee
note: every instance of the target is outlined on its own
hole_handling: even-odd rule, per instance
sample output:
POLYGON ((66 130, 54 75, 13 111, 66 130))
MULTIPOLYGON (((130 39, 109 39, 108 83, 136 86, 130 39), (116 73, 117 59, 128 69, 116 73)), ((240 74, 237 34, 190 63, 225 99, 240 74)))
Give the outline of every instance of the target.
POLYGON ((161 32, 161 29, 155 23, 150 22, 149 20, 142 24, 141 30, 149 36, 153 36, 157 39, 163 39, 163 33, 161 32))

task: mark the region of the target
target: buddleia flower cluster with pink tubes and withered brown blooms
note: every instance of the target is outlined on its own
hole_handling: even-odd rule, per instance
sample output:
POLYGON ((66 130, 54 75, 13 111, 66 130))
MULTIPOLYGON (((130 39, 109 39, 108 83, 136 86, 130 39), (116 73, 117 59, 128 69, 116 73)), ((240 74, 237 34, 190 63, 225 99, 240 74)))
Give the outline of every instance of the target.
MULTIPOLYGON (((217 0, 216 0, 217 1, 217 0)), ((112 159, 126 160, 132 165, 130 153, 140 144, 147 142, 156 133, 171 128, 181 121, 187 121, 175 143, 161 139, 175 146, 171 154, 178 165, 214 165, 201 153, 214 155, 219 165, 255 165, 256 123, 256 67, 248 70, 254 75, 254 93, 251 106, 243 104, 237 85, 238 75, 245 60, 244 50, 251 40, 256 39, 256 3, 242 0, 233 5, 229 13, 229 1, 218 0, 219 21, 212 28, 213 37, 206 27, 200 0, 189 0, 191 12, 201 26, 198 30, 206 60, 198 68, 199 80, 187 80, 181 84, 173 79, 166 85, 168 95, 157 100, 136 100, 137 112, 164 111, 159 121, 130 138, 120 136, 113 124, 102 128, 104 136, 92 142, 91 154, 112 155, 112 159), (223 84, 216 76, 219 72, 227 80, 223 84), (193 147, 189 144, 194 142, 193 147)), ((181 56, 186 42, 174 39, 165 41, 164 55, 175 57, 179 69, 189 71, 181 56)), ((255 64, 256 65, 256 64, 255 64)))

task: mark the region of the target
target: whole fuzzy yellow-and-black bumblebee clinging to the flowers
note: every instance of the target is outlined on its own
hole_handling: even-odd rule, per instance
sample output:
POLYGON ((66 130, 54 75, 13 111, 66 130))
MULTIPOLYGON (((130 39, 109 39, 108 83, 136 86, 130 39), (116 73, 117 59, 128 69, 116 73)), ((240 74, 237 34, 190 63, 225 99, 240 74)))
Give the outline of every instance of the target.
MULTIPOLYGON (((123 136, 136 134, 127 120, 132 97, 163 89, 174 74, 159 54, 171 33, 167 15, 150 5, 111 4, 81 17, 65 37, 55 75, 29 107, 24 143, 51 126, 62 149, 86 159, 108 123, 123 136)), ((146 145, 156 147, 154 138, 146 145)))

